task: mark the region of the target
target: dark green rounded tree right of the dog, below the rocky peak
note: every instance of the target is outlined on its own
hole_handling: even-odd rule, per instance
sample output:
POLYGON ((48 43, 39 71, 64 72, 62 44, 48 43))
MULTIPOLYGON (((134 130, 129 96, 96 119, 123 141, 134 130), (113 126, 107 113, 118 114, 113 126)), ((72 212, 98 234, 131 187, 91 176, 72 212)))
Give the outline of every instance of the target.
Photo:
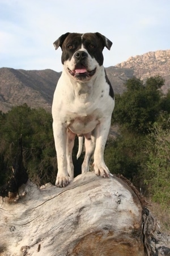
POLYGON ((136 77, 129 79, 125 83, 126 92, 116 96, 113 122, 134 133, 148 133, 160 112, 159 89, 163 84, 160 76, 148 78, 145 84, 136 77))

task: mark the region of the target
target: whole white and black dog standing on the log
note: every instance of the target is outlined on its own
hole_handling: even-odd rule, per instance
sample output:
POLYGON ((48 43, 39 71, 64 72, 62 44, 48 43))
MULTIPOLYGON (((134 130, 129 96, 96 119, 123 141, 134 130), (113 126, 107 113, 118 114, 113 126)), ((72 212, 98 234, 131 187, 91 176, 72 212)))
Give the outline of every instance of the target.
POLYGON ((79 136, 80 156, 84 144, 86 154, 82 173, 87 172, 94 154, 96 175, 109 177, 104 163, 114 93, 103 67, 103 49, 112 42, 100 33, 66 33, 54 42, 62 49, 63 72, 54 92, 52 115, 57 151, 57 187, 65 187, 74 177, 72 150, 75 135, 79 136))

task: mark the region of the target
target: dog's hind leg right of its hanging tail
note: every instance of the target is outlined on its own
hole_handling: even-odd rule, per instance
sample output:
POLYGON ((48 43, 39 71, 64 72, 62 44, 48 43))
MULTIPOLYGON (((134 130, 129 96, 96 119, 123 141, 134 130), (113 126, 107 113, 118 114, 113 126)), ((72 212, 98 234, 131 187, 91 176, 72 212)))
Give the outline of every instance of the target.
POLYGON ((90 167, 90 160, 92 155, 94 154, 95 151, 95 137, 91 134, 84 134, 85 140, 84 140, 84 145, 86 148, 86 154, 84 156, 84 161, 82 164, 82 174, 84 172, 88 172, 89 171, 89 167, 90 167))

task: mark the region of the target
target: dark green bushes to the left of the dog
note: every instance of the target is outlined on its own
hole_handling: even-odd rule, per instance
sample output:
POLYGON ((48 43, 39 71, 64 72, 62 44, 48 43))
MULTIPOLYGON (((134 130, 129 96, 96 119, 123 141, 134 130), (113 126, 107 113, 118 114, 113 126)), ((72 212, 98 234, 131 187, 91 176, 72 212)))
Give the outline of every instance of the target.
POLYGON ((55 179, 57 163, 52 131, 52 115, 26 104, 12 108, 0 117, 0 184, 11 176, 18 138, 23 136, 23 162, 29 178, 37 184, 55 179))

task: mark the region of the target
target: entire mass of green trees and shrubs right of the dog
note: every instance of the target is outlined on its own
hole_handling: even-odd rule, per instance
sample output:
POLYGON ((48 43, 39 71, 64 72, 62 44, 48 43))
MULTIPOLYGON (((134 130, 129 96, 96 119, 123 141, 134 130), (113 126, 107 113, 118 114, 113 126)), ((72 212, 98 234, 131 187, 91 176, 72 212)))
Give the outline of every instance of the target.
POLYGON ((170 91, 163 95, 160 76, 144 83, 126 82, 126 92, 116 95, 112 124, 118 123, 121 137, 108 144, 105 159, 112 172, 120 172, 152 199, 167 207, 170 203, 170 91))

